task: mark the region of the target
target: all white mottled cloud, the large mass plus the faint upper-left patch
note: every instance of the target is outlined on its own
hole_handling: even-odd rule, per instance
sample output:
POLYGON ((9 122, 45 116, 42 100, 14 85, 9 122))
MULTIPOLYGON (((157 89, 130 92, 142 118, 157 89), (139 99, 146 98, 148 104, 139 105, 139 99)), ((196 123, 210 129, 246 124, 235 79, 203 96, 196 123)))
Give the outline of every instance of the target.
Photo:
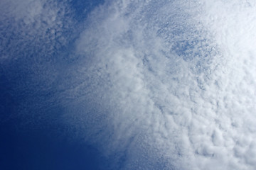
MULTIPOLYGON (((8 16, 49 32, 38 49, 52 54, 74 21, 60 14, 67 4, 33 3, 29 15, 8 16)), ((63 121, 113 169, 256 169, 255 11, 250 0, 106 1, 61 69, 63 121)), ((12 50, 2 51, 5 62, 12 50)))

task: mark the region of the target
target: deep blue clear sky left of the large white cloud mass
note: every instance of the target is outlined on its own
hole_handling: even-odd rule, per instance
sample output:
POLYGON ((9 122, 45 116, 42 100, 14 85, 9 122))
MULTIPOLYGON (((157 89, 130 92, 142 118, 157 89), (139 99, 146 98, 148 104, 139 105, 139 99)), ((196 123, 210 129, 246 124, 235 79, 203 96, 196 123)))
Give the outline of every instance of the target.
MULTIPOLYGON (((100 4, 102 1, 70 1, 68 5, 72 14, 68 14, 68 17, 72 17, 76 21, 74 24, 79 26, 79 22, 85 20, 87 14, 100 4)), ((8 7, 11 5, 6 4, 8 7)), ((52 73, 46 75, 49 76, 46 79, 53 81, 52 84, 44 82, 47 80, 41 81, 40 75, 31 82, 31 79, 45 72, 47 66, 43 64, 49 58, 56 58, 48 66, 50 71, 58 70, 58 66, 54 71, 52 67, 68 55, 68 45, 55 44, 53 48, 56 51, 53 52, 41 50, 33 42, 40 46, 41 42, 36 38, 41 39, 43 35, 39 32, 33 35, 32 40, 26 39, 28 36, 23 39, 21 33, 30 30, 22 29, 30 29, 31 26, 22 26, 22 22, 14 21, 9 13, 6 13, 6 18, 1 17, 1 57, 6 53, 10 58, 17 59, 10 62, 1 60, 0 169, 105 169, 107 166, 104 162, 107 161, 97 148, 87 145, 82 139, 70 137, 68 127, 58 120, 62 114, 58 103, 48 106, 48 98, 56 93, 54 84, 58 80, 53 80, 56 77, 52 73), (21 24, 21 30, 16 24, 21 24), (65 52, 60 52, 60 49, 65 52), (60 53, 64 53, 64 57, 60 57, 60 53), (35 64, 36 57, 40 65, 35 64), (30 115, 35 117, 28 118, 30 115)), ((65 32, 70 34, 74 28, 67 28, 65 32)), ((68 43, 72 44, 73 38, 70 41, 68 43)), ((55 43, 54 40, 46 45, 50 46, 51 43, 55 43)))

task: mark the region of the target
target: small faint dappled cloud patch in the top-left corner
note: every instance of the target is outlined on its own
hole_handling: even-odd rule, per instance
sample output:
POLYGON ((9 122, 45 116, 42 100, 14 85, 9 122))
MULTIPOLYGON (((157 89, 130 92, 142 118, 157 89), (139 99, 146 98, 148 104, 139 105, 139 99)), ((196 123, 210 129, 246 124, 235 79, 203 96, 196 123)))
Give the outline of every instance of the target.
POLYGON ((1 62, 58 51, 70 38, 69 13, 65 3, 54 1, 1 1, 1 62))

